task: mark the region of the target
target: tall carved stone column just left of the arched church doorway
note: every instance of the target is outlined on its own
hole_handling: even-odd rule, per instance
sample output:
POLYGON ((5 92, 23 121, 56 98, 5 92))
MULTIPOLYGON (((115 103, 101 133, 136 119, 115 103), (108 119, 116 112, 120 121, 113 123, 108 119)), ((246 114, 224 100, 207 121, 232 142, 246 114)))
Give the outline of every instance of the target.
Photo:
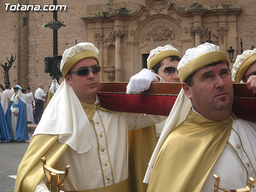
POLYGON ((123 31, 115 31, 116 38, 116 50, 115 50, 115 79, 116 82, 121 82, 121 36, 124 34, 123 31))

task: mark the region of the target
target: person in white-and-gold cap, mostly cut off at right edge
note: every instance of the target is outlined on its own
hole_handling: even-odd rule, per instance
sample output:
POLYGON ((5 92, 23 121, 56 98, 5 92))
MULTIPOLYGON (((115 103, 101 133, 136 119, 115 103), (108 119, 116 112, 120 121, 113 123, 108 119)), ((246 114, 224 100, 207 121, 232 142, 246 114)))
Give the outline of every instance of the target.
POLYGON ((232 81, 246 83, 248 89, 256 94, 256 49, 245 50, 236 57, 232 68, 232 81))

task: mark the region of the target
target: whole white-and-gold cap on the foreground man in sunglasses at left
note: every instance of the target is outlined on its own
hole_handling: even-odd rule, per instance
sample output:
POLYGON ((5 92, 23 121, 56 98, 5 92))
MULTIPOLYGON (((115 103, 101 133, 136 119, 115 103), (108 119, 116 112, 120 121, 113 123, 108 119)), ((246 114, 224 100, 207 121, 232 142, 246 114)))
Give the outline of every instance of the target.
POLYGON ((60 62, 60 71, 65 78, 68 71, 79 61, 85 58, 95 58, 99 65, 99 50, 92 43, 82 42, 66 49, 60 62))

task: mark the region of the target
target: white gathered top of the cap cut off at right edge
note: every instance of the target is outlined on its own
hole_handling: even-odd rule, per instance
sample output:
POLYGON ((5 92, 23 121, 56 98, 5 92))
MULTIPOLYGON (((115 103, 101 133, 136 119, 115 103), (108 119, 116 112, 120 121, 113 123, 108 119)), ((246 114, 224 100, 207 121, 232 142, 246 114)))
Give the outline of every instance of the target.
MULTIPOLYGON (((241 66, 242 62, 252 54, 256 53, 256 49, 253 50, 245 50, 241 55, 236 56, 236 62, 233 65, 232 68, 232 81, 235 81, 236 72, 238 71, 238 68, 241 66)), ((244 81, 241 79, 240 83, 243 83, 244 81)))

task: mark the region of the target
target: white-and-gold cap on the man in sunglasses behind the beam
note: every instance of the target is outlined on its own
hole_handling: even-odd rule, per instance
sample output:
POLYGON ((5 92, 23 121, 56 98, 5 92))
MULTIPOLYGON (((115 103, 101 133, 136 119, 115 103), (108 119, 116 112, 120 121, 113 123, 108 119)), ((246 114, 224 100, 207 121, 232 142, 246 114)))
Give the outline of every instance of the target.
POLYGON ((148 69, 152 69, 156 64, 162 61, 166 57, 176 56, 180 57, 180 52, 178 49, 174 48, 171 45, 165 45, 163 47, 159 46, 150 51, 150 54, 147 58, 148 69))

